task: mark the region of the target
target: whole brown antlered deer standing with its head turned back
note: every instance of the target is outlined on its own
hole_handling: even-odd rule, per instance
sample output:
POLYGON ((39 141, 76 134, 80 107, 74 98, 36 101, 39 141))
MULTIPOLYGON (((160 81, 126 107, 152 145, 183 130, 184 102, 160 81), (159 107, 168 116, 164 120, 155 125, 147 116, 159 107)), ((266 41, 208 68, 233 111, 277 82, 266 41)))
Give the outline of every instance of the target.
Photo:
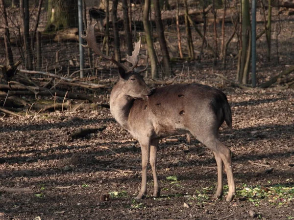
POLYGON ((132 55, 127 55, 127 66, 116 61, 113 56, 104 55, 99 49, 96 37, 96 24, 89 25, 84 47, 92 48, 102 58, 118 66, 119 81, 110 94, 110 111, 116 121, 137 139, 142 153, 142 183, 136 199, 147 196, 147 165, 150 162, 154 190, 153 197, 160 197, 160 187, 156 173, 157 149, 159 140, 173 135, 192 134, 212 150, 217 163, 217 191, 215 198, 223 195, 223 164, 226 170, 229 191, 226 201, 236 194, 232 171, 231 151, 219 140, 219 129, 225 121, 232 129, 232 113, 226 95, 217 88, 201 84, 175 84, 150 89, 138 70, 141 46, 135 43, 132 55))

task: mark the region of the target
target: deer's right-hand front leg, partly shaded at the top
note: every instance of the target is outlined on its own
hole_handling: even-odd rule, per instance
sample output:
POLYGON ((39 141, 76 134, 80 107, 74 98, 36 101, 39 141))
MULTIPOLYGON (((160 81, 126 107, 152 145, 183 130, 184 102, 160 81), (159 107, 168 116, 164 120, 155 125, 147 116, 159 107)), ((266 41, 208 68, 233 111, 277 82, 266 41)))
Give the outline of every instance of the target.
POLYGON ((157 160, 157 146, 158 146, 159 139, 152 139, 151 140, 151 147, 150 147, 150 165, 152 168, 153 173, 153 181, 154 181, 154 191, 153 197, 160 197, 160 188, 157 180, 156 174, 156 160, 157 160))

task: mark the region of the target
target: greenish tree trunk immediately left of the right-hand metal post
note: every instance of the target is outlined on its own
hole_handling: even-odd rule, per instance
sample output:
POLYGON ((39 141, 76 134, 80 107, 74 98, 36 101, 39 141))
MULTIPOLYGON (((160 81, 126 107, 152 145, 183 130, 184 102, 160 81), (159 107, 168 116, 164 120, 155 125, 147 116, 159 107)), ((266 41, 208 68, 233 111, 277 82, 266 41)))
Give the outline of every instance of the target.
POLYGON ((237 81, 241 84, 247 84, 248 66, 250 63, 251 54, 251 34, 250 34, 250 14, 249 14, 249 0, 242 0, 242 51, 240 70, 237 74, 237 81))

